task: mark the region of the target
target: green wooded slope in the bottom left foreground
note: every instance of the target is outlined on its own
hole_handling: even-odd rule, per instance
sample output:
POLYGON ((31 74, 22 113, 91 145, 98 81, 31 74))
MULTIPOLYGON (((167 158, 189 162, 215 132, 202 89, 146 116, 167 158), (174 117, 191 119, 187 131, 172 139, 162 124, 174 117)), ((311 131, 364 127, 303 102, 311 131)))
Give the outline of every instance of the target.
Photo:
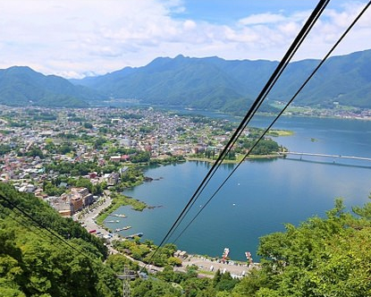
POLYGON ((97 237, 11 185, 0 183, 0 194, 0 296, 122 295, 122 283, 102 262, 107 250, 97 237))

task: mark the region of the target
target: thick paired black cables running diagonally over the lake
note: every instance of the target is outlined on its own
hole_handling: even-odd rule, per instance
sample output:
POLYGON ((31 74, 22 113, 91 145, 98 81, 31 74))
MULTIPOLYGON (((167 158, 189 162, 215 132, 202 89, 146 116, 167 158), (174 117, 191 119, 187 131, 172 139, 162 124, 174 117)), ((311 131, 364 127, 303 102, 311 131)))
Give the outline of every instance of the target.
POLYGON ((297 51, 299 46, 301 45, 302 41, 307 37, 308 32, 313 28, 314 24, 318 20, 319 16, 324 12, 326 5, 330 2, 330 0, 321 0, 316 5, 316 8, 314 11, 310 14, 308 21, 304 24, 302 30, 300 30, 298 36, 294 39, 293 43, 291 44, 291 47, 287 51, 287 53, 282 58, 282 61, 277 66, 276 70, 266 83, 266 86, 263 88, 263 90, 260 92, 257 99, 254 101, 253 105, 250 106, 249 112, 247 115, 245 115, 243 121, 240 123, 237 130, 233 133, 231 140, 228 141, 226 146, 223 148, 222 153, 220 156, 216 159, 215 164, 212 166, 210 171, 207 173, 206 177, 203 179, 203 181, 199 184, 198 189, 195 191, 195 193, 190 198, 189 202, 185 206, 185 208, 182 209, 181 214, 178 216, 178 218, 173 223, 172 227, 169 229, 169 231, 165 234, 164 239, 160 244, 158 245, 155 252, 152 254, 151 258, 148 262, 151 261, 156 255, 156 252, 161 248, 161 246, 164 244, 164 242, 169 238, 170 234, 173 233, 173 231, 179 226, 181 220, 183 217, 188 213, 189 209, 193 206, 196 199, 199 197, 199 194, 205 189, 207 183, 211 179, 211 177, 215 174, 215 171, 219 167, 219 165, 222 164, 223 159, 226 157, 226 153, 229 152, 232 148, 232 144, 235 143, 235 141, 240 136, 241 132, 243 132, 243 129, 246 127, 247 123, 249 123, 252 115, 254 115, 257 111, 258 106, 261 105, 261 103, 264 101, 267 95, 267 91, 272 89, 272 85, 274 85, 275 81, 277 81, 278 77, 281 75, 284 68, 289 64, 289 61, 291 60, 292 55, 297 51))

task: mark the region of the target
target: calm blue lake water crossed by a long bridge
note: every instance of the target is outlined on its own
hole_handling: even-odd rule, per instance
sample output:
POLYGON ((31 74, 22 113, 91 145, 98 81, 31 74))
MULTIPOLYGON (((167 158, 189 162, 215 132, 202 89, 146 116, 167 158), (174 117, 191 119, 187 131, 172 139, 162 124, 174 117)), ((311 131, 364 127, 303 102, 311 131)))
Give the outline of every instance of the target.
MULTIPOLYGON (((260 117, 253 125, 265 127, 268 120, 260 117)), ((291 151, 371 157, 371 122, 285 117, 274 128, 295 132, 276 139, 291 151)), ((233 167, 221 166, 180 231, 233 167)), ((158 208, 136 212, 123 207, 115 213, 128 217, 106 225, 113 229, 131 225, 122 234, 142 232, 158 244, 209 169, 203 162, 149 168, 146 175, 159 180, 125 194, 158 208)), ((244 259, 247 250, 256 257, 259 237, 284 230, 284 223, 298 225, 309 216, 325 216, 336 197, 342 197, 348 208, 363 205, 370 191, 369 161, 313 157, 248 161, 175 243, 190 253, 221 256, 223 248, 229 247, 232 259, 244 259)))

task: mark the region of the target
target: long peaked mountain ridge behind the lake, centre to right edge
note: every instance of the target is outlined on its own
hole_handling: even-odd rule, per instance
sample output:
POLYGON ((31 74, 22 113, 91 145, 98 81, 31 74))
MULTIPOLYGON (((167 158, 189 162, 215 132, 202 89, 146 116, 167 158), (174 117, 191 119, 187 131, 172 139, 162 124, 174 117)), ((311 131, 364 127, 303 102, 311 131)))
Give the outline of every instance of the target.
MULTIPOLYGON (((295 103, 305 106, 371 107, 371 50, 334 56, 295 103)), ((293 62, 269 98, 291 98, 319 60, 293 62)), ((278 62, 226 61, 218 57, 156 58, 150 64, 98 77, 73 81, 114 98, 136 98, 143 103, 181 105, 235 111, 256 98, 278 62)))

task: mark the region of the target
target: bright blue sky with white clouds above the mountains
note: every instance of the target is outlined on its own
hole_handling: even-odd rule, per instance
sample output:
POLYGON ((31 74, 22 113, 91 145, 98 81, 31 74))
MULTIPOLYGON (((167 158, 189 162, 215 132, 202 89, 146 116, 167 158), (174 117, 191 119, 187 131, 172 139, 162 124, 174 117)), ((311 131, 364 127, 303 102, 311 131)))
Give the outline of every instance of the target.
MULTIPOLYGON (((296 60, 321 58, 366 0, 332 0, 296 60)), ((157 56, 280 60, 313 0, 0 0, 0 68, 82 78, 157 56)), ((371 48, 371 12, 334 55, 371 48)))

